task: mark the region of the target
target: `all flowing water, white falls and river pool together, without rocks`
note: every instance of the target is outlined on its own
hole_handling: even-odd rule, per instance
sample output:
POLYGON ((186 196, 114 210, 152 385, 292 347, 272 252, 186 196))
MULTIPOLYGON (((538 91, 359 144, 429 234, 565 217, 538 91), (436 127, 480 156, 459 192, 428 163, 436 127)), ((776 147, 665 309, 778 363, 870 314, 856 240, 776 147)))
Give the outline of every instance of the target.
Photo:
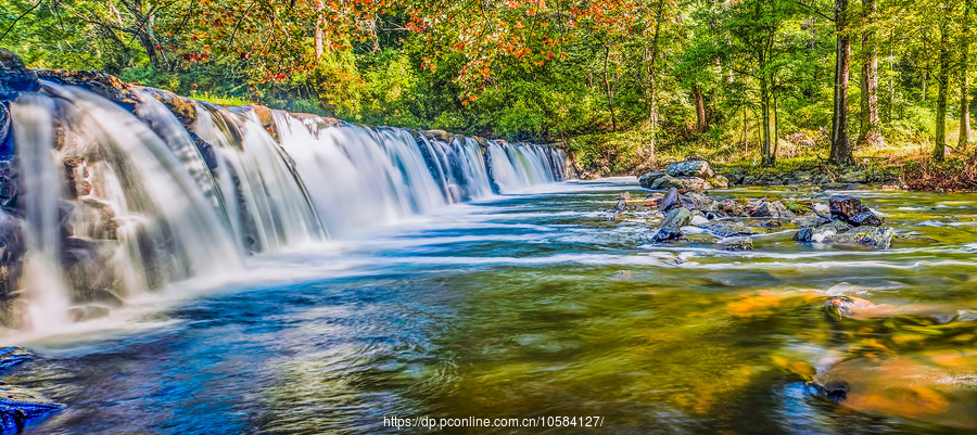
MULTIPOLYGON (((801 245, 789 225, 748 252, 702 234, 654 245, 660 215, 643 200, 610 212, 622 192, 644 197, 635 179, 554 182, 553 149, 286 113, 271 137, 252 114, 204 107, 198 123, 213 128, 196 136, 214 153, 198 159, 179 151, 192 138, 125 125, 137 151, 118 128, 68 121, 79 104, 110 110, 68 98, 53 113, 97 138, 69 144, 93 146, 80 196, 124 217, 106 246, 129 287, 107 318, 5 332, 36 357, 3 381, 65 405, 27 433, 426 432, 384 424, 417 417, 600 418, 472 433, 977 431, 973 194, 857 192, 896 229, 886 251, 801 245), (842 295, 876 309, 825 309, 842 295), (815 386, 841 382, 843 400, 815 386)), ((45 104, 18 100, 16 126, 43 139, 23 127, 43 116, 23 107, 45 104)), ((47 227, 29 222, 28 251, 50 259, 47 227)), ((87 283, 63 270, 66 292, 87 283)))

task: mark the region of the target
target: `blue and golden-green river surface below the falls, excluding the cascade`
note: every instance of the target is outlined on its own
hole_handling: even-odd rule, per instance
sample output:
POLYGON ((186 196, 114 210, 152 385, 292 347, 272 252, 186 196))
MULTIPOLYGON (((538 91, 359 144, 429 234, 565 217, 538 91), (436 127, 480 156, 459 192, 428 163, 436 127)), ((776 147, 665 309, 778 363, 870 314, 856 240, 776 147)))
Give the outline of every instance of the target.
POLYGON ((426 432, 384 424, 419 417, 600 418, 471 433, 977 430, 973 194, 854 192, 897 230, 886 251, 801 245, 788 225, 727 252, 650 244, 642 201, 611 219, 625 191, 647 194, 542 184, 251 256, 26 340, 37 357, 3 380, 65 405, 37 434, 426 432), (838 295, 891 310, 839 318, 838 295), (845 400, 808 384, 825 375, 845 400))

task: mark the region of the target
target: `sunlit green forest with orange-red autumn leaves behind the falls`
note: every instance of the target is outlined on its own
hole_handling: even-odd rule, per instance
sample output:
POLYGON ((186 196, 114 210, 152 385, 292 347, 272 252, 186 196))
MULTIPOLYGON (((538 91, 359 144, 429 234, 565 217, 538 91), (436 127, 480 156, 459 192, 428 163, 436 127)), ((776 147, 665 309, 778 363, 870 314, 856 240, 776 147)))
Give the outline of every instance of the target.
POLYGON ((224 104, 970 182, 973 0, 9 0, 0 46, 224 104))

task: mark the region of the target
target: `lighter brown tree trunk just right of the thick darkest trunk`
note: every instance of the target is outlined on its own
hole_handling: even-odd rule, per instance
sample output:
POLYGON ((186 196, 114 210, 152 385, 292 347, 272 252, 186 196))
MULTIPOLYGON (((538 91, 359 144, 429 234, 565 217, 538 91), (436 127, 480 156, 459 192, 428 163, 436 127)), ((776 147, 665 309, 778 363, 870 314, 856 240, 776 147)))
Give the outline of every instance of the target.
MULTIPOLYGON (((871 26, 877 11, 877 0, 862 0, 865 10, 865 23, 871 26)), ((866 30, 862 47, 865 49, 865 60, 862 63, 862 136, 859 144, 881 146, 886 144, 878 128, 878 50, 876 47, 875 31, 866 30)))

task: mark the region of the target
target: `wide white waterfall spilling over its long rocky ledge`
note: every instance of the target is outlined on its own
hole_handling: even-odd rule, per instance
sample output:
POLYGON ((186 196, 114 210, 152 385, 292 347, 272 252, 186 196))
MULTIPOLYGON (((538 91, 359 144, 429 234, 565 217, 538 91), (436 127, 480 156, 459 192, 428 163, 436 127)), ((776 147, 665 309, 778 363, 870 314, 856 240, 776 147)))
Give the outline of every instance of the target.
POLYGON ((566 176, 549 145, 224 107, 97 72, 12 71, 0 114, 7 329, 56 331, 246 255, 566 176))

